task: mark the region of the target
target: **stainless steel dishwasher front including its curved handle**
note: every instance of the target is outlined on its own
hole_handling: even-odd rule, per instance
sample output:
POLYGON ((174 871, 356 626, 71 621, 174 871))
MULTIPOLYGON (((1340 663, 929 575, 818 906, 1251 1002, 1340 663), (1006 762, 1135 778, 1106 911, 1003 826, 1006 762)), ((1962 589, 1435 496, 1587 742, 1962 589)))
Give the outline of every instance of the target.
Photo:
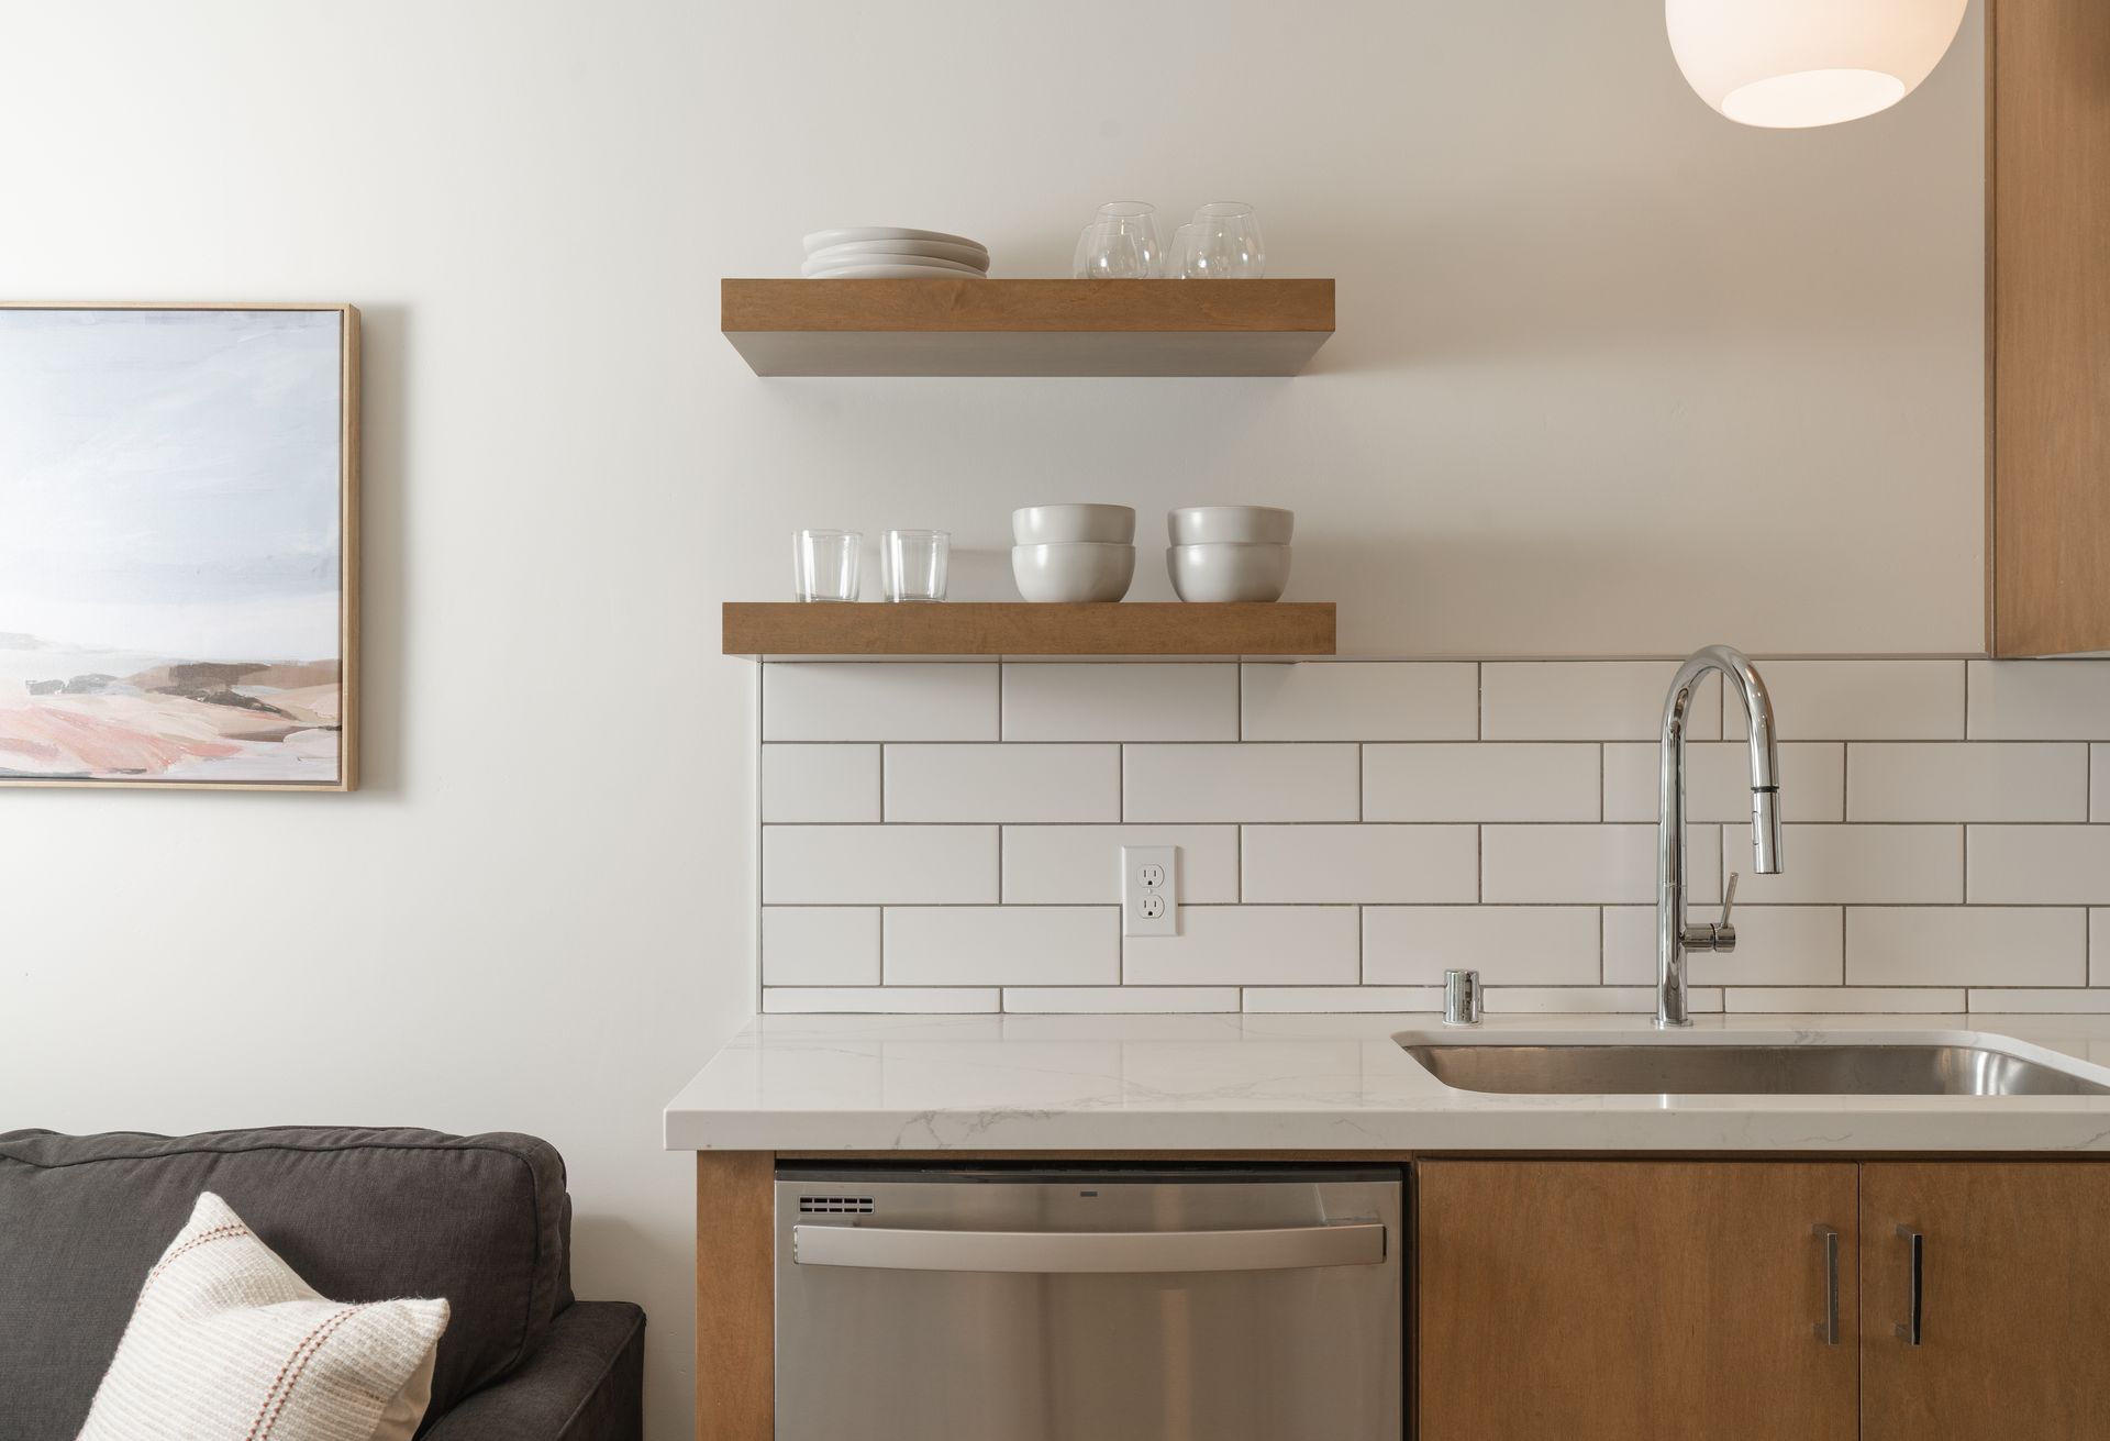
POLYGON ((1386 1167, 785 1165, 776 1441, 1399 1441, 1401 1194, 1386 1167))

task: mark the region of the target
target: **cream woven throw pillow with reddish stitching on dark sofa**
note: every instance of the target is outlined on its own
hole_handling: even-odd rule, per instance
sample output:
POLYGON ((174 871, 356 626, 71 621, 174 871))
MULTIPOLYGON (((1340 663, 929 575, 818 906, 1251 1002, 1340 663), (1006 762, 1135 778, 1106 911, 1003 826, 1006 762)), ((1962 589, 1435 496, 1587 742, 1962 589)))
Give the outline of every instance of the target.
POLYGON ((139 1287, 80 1441, 409 1441, 447 1302, 327 1302, 213 1192, 139 1287))

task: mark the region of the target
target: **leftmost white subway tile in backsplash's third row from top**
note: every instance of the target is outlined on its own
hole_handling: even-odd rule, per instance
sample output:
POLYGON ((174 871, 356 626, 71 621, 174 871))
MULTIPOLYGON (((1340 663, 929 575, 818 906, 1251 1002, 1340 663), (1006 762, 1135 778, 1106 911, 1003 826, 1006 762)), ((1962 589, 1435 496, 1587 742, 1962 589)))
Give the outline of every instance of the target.
POLYGON ((764 905, 996 901, 994 825, 764 825, 764 905))

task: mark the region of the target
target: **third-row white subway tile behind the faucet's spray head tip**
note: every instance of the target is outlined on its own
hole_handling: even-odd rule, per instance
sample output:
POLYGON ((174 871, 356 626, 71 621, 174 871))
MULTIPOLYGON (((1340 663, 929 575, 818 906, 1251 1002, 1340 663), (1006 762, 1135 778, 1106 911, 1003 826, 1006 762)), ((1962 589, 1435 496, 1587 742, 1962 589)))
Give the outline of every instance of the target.
POLYGON ((1785 825, 1781 873, 1751 869, 1751 827, 1722 827, 1724 865, 1751 905, 1943 905, 1964 899, 1960 825, 1785 825))

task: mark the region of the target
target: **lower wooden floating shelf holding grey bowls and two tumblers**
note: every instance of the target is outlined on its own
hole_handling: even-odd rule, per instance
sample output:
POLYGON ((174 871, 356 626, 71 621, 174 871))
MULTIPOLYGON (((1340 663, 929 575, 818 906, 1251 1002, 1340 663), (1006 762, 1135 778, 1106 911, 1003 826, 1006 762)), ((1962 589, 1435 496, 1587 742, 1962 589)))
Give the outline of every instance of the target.
POLYGON ((726 654, 753 660, 998 656, 1331 656, 1334 601, 1268 606, 804 606, 726 601, 726 654))

